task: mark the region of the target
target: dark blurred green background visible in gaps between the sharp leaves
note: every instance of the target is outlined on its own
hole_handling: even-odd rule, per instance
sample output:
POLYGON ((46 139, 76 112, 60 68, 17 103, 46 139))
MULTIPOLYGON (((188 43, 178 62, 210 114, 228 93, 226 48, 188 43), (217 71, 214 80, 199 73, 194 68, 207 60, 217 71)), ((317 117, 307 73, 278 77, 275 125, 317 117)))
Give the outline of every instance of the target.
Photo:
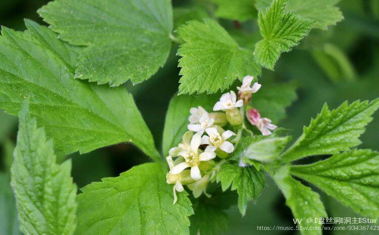
MULTIPOLYGON (((43 0, 0 0, 0 24, 23 30, 23 19, 43 22, 36 10, 46 4, 43 0)), ((174 19, 178 26, 186 20, 213 17, 215 6, 207 1, 173 1, 174 19)), ((379 97, 379 0, 343 0, 339 5, 345 20, 327 31, 312 30, 299 46, 283 53, 275 71, 263 70, 261 80, 293 81, 297 84, 298 99, 287 109, 287 118, 278 126, 291 130, 298 137, 304 125, 315 117, 324 102, 337 107, 345 100, 366 100, 379 97)), ((228 20, 220 23, 244 46, 254 46, 259 35, 255 21, 243 24, 228 20)), ((173 44, 164 68, 152 79, 132 86, 137 106, 152 131, 158 149, 165 112, 172 95, 177 91, 179 68, 177 45, 173 44)), ((0 235, 18 234, 13 194, 9 187, 9 167, 17 133, 17 119, 0 112, 0 235)), ((379 113, 361 137, 360 148, 379 150, 379 113)), ((295 138, 294 138, 295 139, 295 138)), ((130 167, 149 161, 149 158, 130 144, 119 144, 88 154, 73 154, 72 175, 79 188, 115 177, 130 167)), ((350 209, 322 195, 330 217, 359 217, 350 209)), ((251 203, 244 218, 236 206, 227 211, 229 226, 226 234, 294 234, 293 231, 257 231, 257 226, 291 226, 292 214, 274 183, 267 178, 267 187, 256 203, 251 203)), ((326 225, 330 226, 330 225, 326 225)), ((340 231, 324 234, 377 234, 377 231, 340 231)))

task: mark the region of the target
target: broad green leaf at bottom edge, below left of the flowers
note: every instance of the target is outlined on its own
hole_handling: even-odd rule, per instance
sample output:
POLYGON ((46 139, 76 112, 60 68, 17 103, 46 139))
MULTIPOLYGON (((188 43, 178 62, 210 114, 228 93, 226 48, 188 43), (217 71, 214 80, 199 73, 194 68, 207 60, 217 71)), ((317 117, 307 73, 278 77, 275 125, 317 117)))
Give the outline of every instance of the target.
POLYGON ((78 234, 187 234, 191 202, 184 192, 173 202, 166 169, 157 163, 134 166, 104 178, 78 195, 78 234))

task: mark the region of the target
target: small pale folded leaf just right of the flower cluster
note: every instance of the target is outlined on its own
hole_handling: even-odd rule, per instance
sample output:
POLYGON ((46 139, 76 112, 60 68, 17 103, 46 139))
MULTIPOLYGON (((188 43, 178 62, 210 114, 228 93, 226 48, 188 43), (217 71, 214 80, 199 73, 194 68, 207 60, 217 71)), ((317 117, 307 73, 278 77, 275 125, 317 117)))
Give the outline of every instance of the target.
POLYGON ((247 136, 240 141, 232 154, 234 159, 252 159, 263 163, 276 160, 291 137, 247 136))

